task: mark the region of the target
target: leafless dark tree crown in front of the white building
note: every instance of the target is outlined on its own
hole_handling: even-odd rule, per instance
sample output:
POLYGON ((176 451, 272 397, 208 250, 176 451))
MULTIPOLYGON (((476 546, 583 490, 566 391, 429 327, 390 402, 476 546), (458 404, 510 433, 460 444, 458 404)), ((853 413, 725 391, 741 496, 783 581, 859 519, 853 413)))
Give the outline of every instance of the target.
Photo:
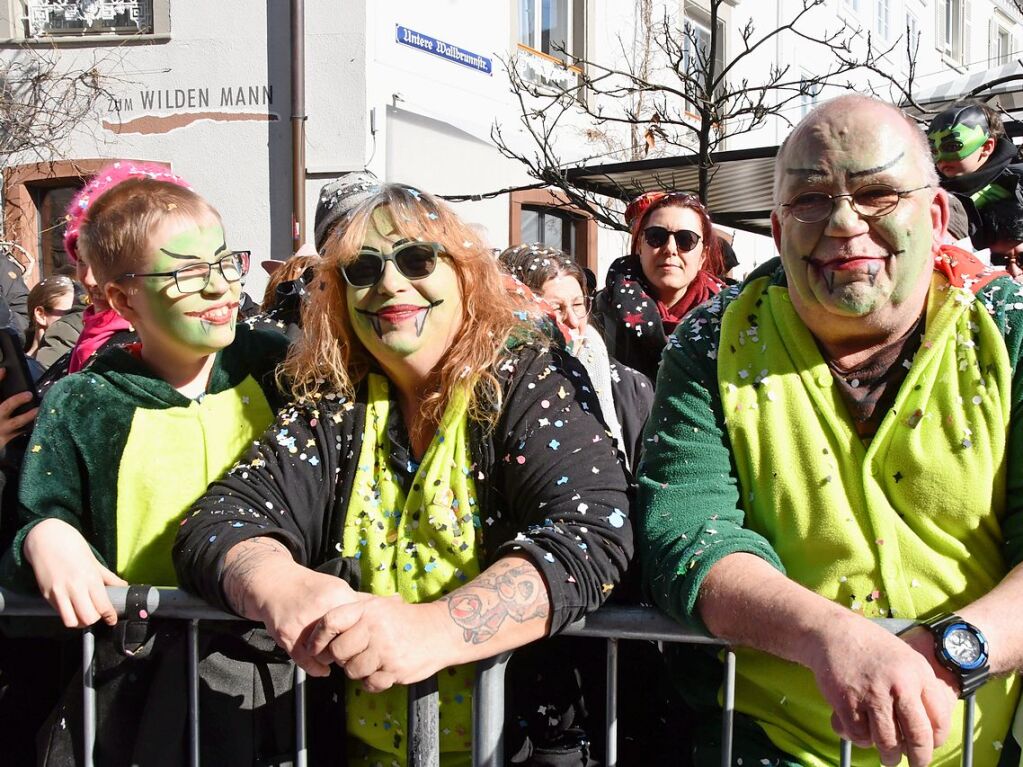
MULTIPOLYGON (((852 89, 848 78, 853 73, 868 73, 897 86, 900 96, 915 103, 915 67, 910 65, 908 82, 896 82, 891 75, 894 67, 886 61, 900 50, 902 38, 876 49, 870 34, 844 25, 811 32, 804 29, 808 16, 825 7, 827 0, 801 0, 776 28, 757 34, 753 24, 747 22, 738 30, 738 50, 729 51, 725 60, 718 24, 724 2, 709 0, 708 15, 698 27, 670 10, 655 19, 653 2, 639 0, 635 39, 619 36, 620 61, 576 57, 572 51, 558 49, 566 60, 561 78, 531 76, 533 57, 528 52, 511 56, 504 64, 523 131, 513 137, 494 125, 494 142, 505 156, 523 163, 533 178, 555 187, 572 205, 603 224, 623 228, 620 205, 569 181, 566 169, 586 159, 567 159, 560 148, 566 138, 581 135, 591 145, 607 147, 608 155, 618 161, 695 153, 699 183, 688 191, 706 200, 714 174, 712 155, 722 142, 756 131, 771 118, 791 124, 787 109, 800 105, 807 96, 815 97, 825 87, 852 89), (808 51, 814 51, 808 55, 813 55, 816 74, 797 77, 787 65, 771 64, 758 79, 740 76, 753 72, 765 46, 779 40, 805 42, 808 51), (860 52, 864 42, 865 52, 860 52), (572 73, 577 74, 570 77, 572 73)), ((908 38, 907 32, 904 47, 911 64, 919 39, 908 38)), ((618 191, 624 197, 639 190, 618 191)))

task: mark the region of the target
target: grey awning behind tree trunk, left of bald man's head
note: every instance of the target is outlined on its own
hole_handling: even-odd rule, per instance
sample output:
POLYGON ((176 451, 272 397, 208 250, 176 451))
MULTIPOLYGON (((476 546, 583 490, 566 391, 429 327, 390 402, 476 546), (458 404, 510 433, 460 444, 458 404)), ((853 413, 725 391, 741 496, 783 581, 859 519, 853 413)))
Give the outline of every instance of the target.
MULTIPOLYGON (((711 153, 713 169, 707 207, 714 223, 770 234, 771 187, 776 146, 711 153)), ((646 191, 692 191, 699 187, 700 157, 637 160, 631 163, 584 166, 566 171, 582 189, 629 200, 646 191)))

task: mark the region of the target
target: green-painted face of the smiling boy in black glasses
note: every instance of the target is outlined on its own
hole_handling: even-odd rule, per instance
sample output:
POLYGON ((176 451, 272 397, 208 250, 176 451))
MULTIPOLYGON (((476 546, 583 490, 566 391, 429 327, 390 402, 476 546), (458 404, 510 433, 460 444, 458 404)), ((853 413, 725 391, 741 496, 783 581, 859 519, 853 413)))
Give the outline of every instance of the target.
POLYGON ((150 242, 145 272, 214 266, 209 284, 198 292, 182 292, 174 277, 135 278, 132 306, 143 348, 150 353, 160 348, 168 354, 207 355, 228 346, 234 341, 241 283, 227 282, 216 266, 229 254, 220 223, 172 219, 158 228, 150 242))

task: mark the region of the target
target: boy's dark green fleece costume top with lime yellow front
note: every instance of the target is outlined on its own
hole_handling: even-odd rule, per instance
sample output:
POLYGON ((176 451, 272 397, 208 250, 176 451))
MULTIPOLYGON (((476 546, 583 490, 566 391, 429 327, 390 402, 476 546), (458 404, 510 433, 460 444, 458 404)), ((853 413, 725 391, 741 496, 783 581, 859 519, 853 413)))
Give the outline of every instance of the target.
POLYGON ((12 583, 34 587, 21 543, 36 524, 58 518, 131 583, 175 585, 170 551, 181 517, 273 421, 273 368, 285 351, 276 333, 239 329, 217 354, 201 402, 154 375, 137 347, 110 349, 57 381, 21 470, 12 583))

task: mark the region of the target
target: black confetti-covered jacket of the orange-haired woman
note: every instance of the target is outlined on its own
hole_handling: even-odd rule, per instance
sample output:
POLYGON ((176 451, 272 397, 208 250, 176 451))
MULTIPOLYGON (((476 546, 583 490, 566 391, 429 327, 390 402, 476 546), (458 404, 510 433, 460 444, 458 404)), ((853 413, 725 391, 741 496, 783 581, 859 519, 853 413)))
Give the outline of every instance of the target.
MULTIPOLYGON (((501 415, 474 430, 481 565, 528 555, 547 583, 551 632, 598 607, 632 556, 629 489, 582 368, 558 350, 523 347, 499 365, 501 415)), ((224 557, 248 538, 270 536, 296 561, 337 559, 365 424, 356 401, 323 399, 283 410, 247 458, 210 486, 174 549, 181 585, 229 610, 224 557), (292 451, 292 447, 297 450, 292 451)))

